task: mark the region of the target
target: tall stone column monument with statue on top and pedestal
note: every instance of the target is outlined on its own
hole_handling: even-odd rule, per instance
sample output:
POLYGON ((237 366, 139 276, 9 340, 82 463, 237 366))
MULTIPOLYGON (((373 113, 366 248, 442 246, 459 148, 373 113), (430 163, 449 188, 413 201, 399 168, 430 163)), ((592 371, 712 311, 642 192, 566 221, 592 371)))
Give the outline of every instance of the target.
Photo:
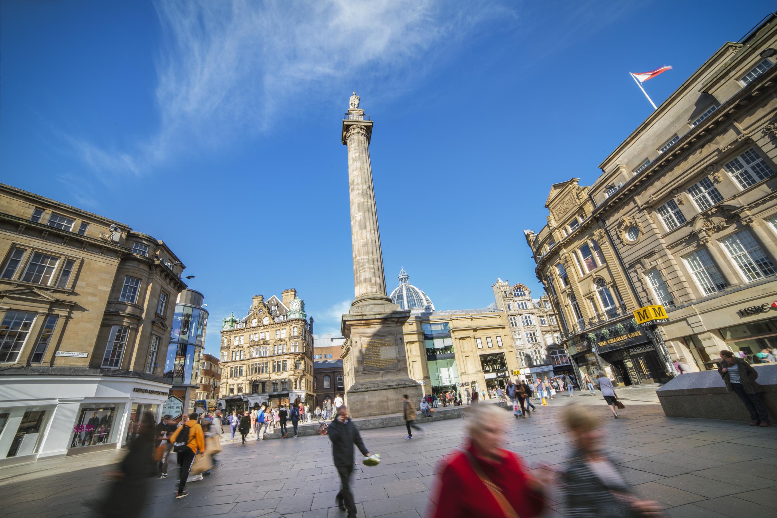
POLYGON ((341 331, 348 412, 355 417, 402 412, 402 395, 415 405, 423 391, 408 376, 402 325, 410 311, 386 295, 378 210, 370 165, 372 121, 350 98, 342 142, 348 146, 350 234, 354 252, 354 301, 341 331))

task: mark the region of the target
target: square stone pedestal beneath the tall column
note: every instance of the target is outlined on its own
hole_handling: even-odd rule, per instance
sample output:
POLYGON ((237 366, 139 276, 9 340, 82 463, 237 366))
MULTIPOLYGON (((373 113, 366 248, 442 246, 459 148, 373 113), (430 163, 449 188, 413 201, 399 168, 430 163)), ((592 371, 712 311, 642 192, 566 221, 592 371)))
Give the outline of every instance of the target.
POLYGON ((343 315, 341 329, 346 337, 343 358, 354 376, 346 391, 348 413, 354 417, 400 413, 402 395, 416 405, 423 389, 407 375, 402 338, 410 311, 399 310, 396 304, 354 305, 351 310, 358 312, 343 315))

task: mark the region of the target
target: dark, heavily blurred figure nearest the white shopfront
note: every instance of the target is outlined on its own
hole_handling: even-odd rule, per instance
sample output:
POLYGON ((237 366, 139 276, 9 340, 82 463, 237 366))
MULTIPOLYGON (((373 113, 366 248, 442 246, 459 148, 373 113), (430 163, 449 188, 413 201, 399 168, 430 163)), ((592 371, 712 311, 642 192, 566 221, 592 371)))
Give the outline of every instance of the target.
POLYGON ((141 416, 138 435, 131 441, 127 454, 119 464, 119 471, 109 475, 113 482, 105 498, 96 502, 95 511, 99 516, 146 516, 148 485, 154 473, 154 444, 154 416, 145 412, 141 416))

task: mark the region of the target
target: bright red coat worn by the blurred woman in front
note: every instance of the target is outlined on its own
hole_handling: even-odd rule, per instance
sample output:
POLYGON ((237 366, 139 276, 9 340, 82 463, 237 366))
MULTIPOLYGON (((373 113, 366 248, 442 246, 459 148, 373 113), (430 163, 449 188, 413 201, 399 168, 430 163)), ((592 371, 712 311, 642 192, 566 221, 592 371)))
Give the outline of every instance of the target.
MULTIPOLYGON (((507 501, 521 518, 537 516, 545 506, 542 494, 528 487, 527 475, 521 466, 521 460, 511 451, 502 450, 506 455, 502 464, 492 464, 478 458, 472 443, 467 450, 479 461, 480 469, 502 490, 507 501)), ((432 499, 437 502, 431 508, 429 518, 472 518, 489 516, 502 518, 504 513, 496 499, 472 468, 464 453, 454 454, 445 464, 440 475, 437 494, 432 499)))

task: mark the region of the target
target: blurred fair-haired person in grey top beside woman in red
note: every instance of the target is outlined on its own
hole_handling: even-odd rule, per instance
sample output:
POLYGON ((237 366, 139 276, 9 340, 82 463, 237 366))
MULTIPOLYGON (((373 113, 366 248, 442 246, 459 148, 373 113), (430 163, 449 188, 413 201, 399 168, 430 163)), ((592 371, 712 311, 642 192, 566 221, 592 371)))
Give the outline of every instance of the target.
POLYGON ((602 449, 604 434, 586 407, 566 405, 564 422, 574 453, 562 472, 569 516, 577 518, 658 518, 656 502, 636 498, 621 468, 602 449))

